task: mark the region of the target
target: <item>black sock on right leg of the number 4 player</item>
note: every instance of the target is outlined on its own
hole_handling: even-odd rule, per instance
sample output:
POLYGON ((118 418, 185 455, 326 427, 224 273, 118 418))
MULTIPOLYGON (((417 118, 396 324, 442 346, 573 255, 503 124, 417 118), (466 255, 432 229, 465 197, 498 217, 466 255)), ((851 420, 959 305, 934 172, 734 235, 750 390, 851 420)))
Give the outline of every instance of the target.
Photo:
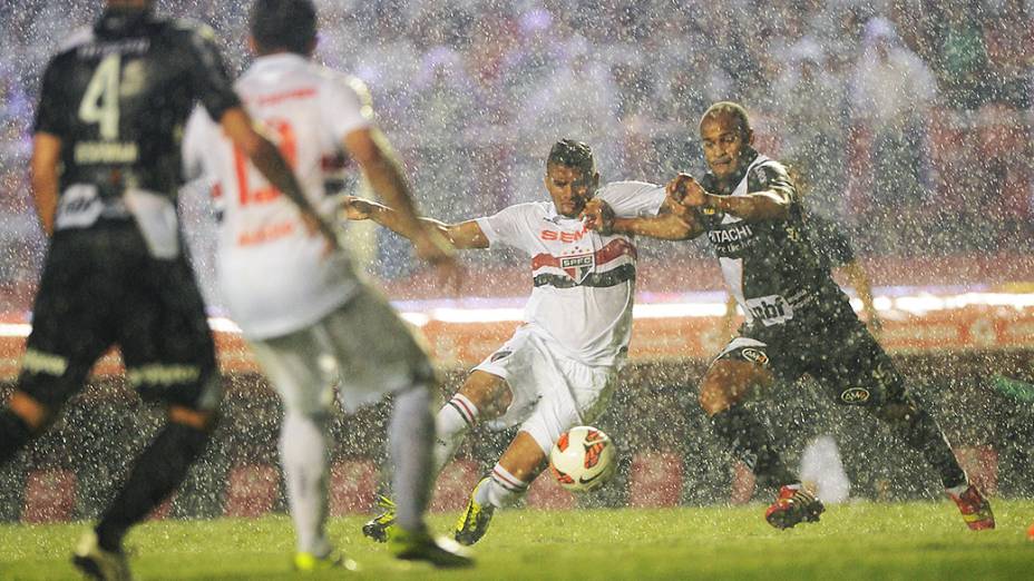
POLYGON ((176 490, 207 442, 208 432, 175 422, 162 430, 137 460, 121 492, 97 524, 101 549, 121 551, 126 531, 176 490))

